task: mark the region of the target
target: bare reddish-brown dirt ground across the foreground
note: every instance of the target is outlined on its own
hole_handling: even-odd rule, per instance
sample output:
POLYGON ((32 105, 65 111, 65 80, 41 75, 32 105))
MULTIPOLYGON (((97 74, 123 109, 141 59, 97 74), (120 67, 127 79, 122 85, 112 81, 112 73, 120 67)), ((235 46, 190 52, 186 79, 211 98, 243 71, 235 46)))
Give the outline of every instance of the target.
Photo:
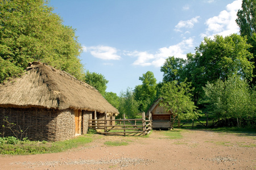
POLYGON ((0 169, 256 169, 256 136, 183 130, 170 139, 154 130, 148 138, 93 135, 94 141, 66 152, 0 155, 0 169), (127 146, 106 146, 123 141, 127 146))

